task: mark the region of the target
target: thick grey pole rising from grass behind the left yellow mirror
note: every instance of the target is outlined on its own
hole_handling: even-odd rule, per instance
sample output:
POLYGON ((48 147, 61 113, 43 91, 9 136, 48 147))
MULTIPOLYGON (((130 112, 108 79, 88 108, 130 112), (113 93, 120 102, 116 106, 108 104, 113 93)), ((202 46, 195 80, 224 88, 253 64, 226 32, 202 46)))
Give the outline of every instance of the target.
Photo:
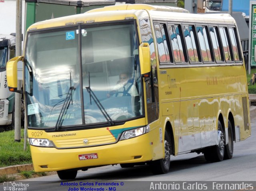
MULTIPOLYGON (((22 42, 22 0, 16 0, 16 56, 21 55, 22 42)), ((18 90, 21 90, 22 81, 18 80, 18 90)), ((21 94, 15 93, 14 108, 14 141, 20 142, 21 94)))

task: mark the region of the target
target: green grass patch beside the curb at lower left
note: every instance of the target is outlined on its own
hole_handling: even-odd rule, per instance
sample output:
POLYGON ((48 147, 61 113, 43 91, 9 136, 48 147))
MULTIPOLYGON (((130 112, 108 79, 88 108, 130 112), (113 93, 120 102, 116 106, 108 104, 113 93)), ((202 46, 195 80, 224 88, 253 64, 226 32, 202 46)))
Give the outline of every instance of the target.
POLYGON ((24 129, 21 130, 21 141, 14 141, 14 130, 0 133, 0 167, 32 163, 29 146, 24 151, 24 129))

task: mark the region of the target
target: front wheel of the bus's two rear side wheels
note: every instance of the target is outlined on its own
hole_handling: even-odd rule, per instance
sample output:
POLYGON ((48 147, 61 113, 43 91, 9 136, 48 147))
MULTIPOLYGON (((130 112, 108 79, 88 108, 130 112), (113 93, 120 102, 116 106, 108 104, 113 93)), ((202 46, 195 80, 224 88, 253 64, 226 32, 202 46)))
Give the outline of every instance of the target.
POLYGON ((207 148, 204 151, 204 158, 207 161, 219 162, 224 159, 225 152, 225 136, 220 120, 218 120, 218 145, 207 148))

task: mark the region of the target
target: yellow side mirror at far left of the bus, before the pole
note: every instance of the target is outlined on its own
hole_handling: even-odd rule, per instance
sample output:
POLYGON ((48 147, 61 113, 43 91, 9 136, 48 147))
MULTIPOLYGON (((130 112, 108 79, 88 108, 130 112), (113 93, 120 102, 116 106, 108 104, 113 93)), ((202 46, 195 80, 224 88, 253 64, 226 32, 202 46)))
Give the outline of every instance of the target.
POLYGON ((22 73, 22 68, 20 68, 19 61, 22 62, 22 60, 23 60, 23 56, 18 56, 10 59, 6 64, 6 76, 7 76, 7 84, 8 84, 9 90, 16 93, 22 93, 21 90, 17 90, 18 74, 20 76, 20 73, 22 73), (19 70, 18 70, 18 65, 19 65, 19 70))

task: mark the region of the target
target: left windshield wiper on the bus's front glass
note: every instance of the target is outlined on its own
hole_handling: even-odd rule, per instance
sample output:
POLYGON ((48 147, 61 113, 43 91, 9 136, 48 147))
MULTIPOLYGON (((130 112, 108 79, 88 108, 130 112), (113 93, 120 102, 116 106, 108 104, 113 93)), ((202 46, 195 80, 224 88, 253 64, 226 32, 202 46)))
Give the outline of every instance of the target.
POLYGON ((64 114, 67 113, 70 102, 72 101, 72 92, 74 90, 76 90, 76 88, 74 86, 69 87, 68 94, 67 94, 67 96, 64 100, 64 103, 63 103, 62 108, 60 110, 58 120, 57 120, 56 125, 55 125, 55 130, 58 130, 60 128, 60 126, 62 125, 62 122, 63 122, 62 118, 63 118, 64 114))

